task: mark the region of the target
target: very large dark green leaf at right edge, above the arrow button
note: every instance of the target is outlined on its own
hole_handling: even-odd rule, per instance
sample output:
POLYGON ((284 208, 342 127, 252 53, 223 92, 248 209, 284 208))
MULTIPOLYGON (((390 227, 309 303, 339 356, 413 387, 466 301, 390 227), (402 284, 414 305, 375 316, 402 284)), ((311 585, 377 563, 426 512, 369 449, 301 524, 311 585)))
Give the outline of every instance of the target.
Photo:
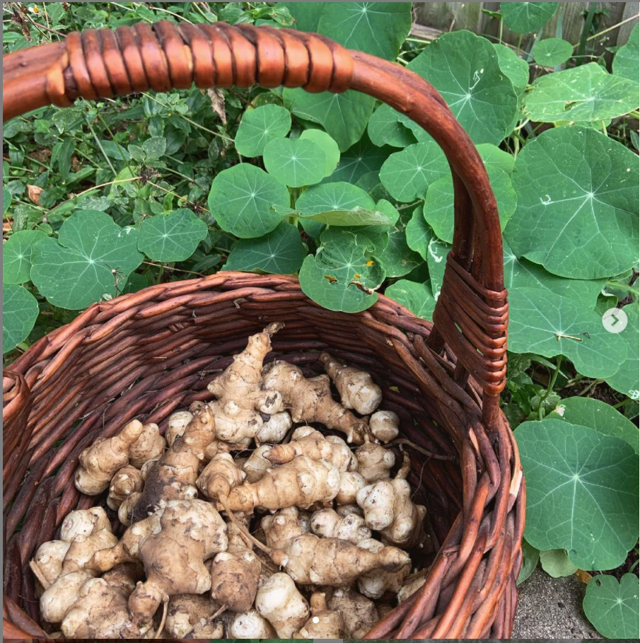
POLYGON ((558 127, 516 158, 516 212, 505 237, 518 256, 576 279, 638 260, 638 156, 600 132, 558 127))

